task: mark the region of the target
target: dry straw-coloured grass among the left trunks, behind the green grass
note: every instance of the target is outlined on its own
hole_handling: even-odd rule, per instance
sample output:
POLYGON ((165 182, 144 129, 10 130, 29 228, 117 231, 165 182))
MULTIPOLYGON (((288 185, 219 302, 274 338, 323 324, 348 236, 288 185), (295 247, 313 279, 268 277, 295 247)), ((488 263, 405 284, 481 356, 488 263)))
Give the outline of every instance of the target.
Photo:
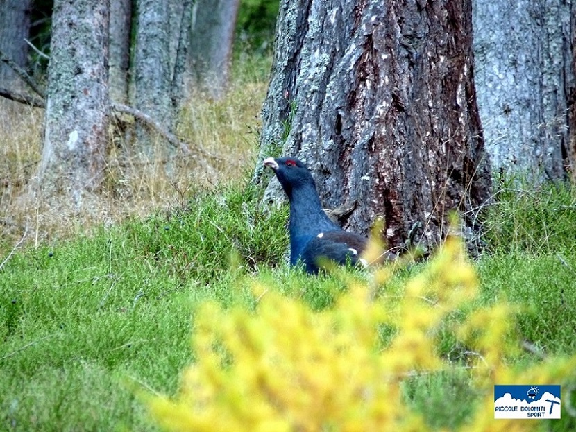
MULTIPOLYGON (((194 95, 180 114, 176 135, 196 157, 178 155, 168 170, 165 160, 146 159, 137 146, 126 144, 126 133, 113 124, 103 191, 83 214, 22 199, 40 162, 44 110, 0 100, 2 243, 19 239, 26 227, 27 240, 35 243, 90 232, 94 225, 169 207, 198 187, 242 178, 253 169, 269 63, 269 58, 236 62, 221 101, 194 95)), ((168 145, 156 140, 159 146, 168 145)))

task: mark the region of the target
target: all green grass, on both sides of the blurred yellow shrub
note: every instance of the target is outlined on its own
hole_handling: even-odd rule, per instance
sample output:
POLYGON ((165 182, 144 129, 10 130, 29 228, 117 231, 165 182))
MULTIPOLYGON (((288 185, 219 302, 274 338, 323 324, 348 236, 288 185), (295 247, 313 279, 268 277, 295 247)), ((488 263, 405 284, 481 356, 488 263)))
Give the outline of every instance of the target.
MULTIPOLYGON (((154 431, 134 388, 176 391, 194 360, 198 304, 249 307, 257 280, 314 309, 330 306, 350 275, 289 270, 287 209, 265 208, 261 196, 237 185, 190 192, 155 216, 17 250, 0 271, 0 430, 154 431)), ((485 215, 479 301, 518 306, 516 332, 538 349, 511 358, 519 368, 576 348, 575 196, 564 186, 505 191, 485 215)), ((11 249, 4 244, 0 258, 11 249)), ((419 268, 401 270, 384 295, 401 295, 419 268)), ((383 328, 382 338, 391 331, 383 328)), ((405 395, 434 427, 454 429, 484 395, 460 368, 464 347, 448 330, 438 340, 455 370, 412 377, 405 395)), ((575 419, 563 417, 534 425, 573 430, 575 419)))

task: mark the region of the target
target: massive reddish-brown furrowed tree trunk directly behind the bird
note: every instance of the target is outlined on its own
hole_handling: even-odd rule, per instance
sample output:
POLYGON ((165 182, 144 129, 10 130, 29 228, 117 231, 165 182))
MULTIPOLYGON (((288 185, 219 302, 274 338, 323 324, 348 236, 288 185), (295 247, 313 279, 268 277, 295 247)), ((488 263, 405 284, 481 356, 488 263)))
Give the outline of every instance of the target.
POLYGON ((471 15, 471 0, 282 1, 260 159, 287 135, 325 206, 362 234, 383 217, 390 245, 429 248, 450 209, 472 234, 491 183, 471 15))

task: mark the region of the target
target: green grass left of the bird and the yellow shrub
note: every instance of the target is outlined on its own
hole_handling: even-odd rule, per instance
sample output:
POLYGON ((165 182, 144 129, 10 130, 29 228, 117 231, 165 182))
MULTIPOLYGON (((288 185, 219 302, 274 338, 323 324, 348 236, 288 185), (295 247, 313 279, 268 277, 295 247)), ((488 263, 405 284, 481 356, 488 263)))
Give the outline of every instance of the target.
POLYGON ((126 381, 173 392, 194 305, 238 301, 235 271, 280 263, 287 213, 259 200, 251 187, 198 192, 170 214, 14 254, 0 273, 0 430, 154 429, 126 381))

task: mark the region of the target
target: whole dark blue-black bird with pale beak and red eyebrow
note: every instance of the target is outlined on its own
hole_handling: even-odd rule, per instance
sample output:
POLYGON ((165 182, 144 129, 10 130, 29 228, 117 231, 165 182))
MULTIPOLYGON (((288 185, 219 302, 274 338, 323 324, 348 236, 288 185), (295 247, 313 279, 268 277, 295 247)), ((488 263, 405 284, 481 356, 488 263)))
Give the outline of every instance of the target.
POLYGON ((293 157, 264 161, 290 200, 290 263, 301 261, 308 273, 318 273, 323 260, 357 263, 368 239, 346 232, 322 209, 312 173, 293 157))

